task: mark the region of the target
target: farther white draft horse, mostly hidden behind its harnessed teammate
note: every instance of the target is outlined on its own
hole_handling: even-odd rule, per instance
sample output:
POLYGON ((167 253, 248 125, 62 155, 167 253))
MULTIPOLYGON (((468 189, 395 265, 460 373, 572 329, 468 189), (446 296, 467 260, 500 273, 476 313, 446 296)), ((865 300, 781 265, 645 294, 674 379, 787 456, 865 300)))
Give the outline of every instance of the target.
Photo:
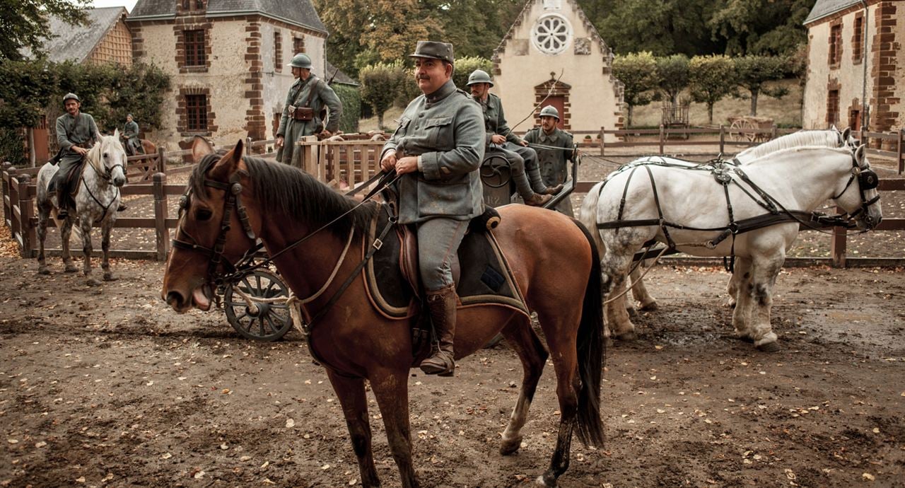
MULTIPOLYGON (((857 140, 853 139, 851 129, 840 131, 833 127, 832 129, 826 130, 799 130, 792 134, 786 134, 785 136, 758 144, 752 148, 747 148, 739 152, 731 160, 736 164, 746 165, 757 158, 767 156, 767 154, 780 149, 805 146, 820 146, 824 148, 843 148, 848 146, 850 148, 857 148, 857 140)), ((662 160, 676 166, 692 167, 698 164, 675 158, 654 157, 652 159, 662 160)), ((594 215, 586 215, 585 218, 582 219, 582 223, 593 226, 594 218, 594 215)), ((645 260, 643 263, 643 266, 651 265, 653 265, 653 258, 645 260)), ((626 280, 626 286, 631 288, 632 296, 634 300, 638 302, 639 310, 654 311, 658 308, 657 301, 649 292, 647 292, 647 288, 644 286, 643 278, 641 277, 643 266, 633 266, 632 273, 629 279, 626 280)), ((741 273, 738 273, 738 268, 736 268, 729 278, 729 283, 726 287, 726 291, 729 294, 729 301, 727 301, 726 304, 729 307, 735 306, 740 277, 741 273)), ((612 298, 605 304, 606 323, 610 324, 608 326, 608 331, 626 330, 627 332, 625 332, 624 335, 618 336, 617 339, 632 340, 634 338, 634 325, 632 324, 629 311, 632 311, 634 308, 633 304, 627 300, 627 297, 623 292, 613 291, 610 293, 610 296, 612 298)))

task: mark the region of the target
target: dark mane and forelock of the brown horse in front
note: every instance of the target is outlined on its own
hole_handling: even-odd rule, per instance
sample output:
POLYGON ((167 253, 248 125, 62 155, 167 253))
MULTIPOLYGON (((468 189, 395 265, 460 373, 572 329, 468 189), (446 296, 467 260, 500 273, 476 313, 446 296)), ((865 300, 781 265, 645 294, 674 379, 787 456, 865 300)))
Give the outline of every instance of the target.
MULTIPOLYGON (((209 154, 195 166, 189 180, 195 194, 204 195, 204 176, 219 160, 219 156, 209 154)), ((265 214, 280 211, 315 230, 357 206, 355 200, 338 194, 296 167, 247 156, 243 161, 248 167, 254 195, 258 197, 265 214)), ((359 206, 326 230, 346 237, 349 229, 354 227, 356 231, 366 234, 375 213, 375 205, 359 206)))

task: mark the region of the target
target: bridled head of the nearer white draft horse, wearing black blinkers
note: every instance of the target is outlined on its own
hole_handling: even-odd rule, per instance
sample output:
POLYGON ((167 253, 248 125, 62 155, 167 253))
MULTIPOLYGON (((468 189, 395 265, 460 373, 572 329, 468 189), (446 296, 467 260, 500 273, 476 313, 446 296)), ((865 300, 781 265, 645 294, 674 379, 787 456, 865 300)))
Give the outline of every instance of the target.
POLYGON ((843 190, 833 199, 851 215, 861 230, 871 230, 883 218, 880 208, 880 178, 867 160, 867 148, 862 144, 852 152, 852 174, 843 190))

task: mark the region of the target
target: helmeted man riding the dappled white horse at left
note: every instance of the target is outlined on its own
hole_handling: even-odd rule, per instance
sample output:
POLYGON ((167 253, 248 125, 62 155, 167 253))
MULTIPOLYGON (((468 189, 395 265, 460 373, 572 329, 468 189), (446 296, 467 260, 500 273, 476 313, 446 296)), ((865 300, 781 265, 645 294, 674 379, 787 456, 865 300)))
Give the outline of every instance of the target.
POLYGON ((98 141, 98 124, 87 113, 81 113, 81 100, 75 93, 67 93, 62 98, 66 113, 57 118, 56 133, 57 145, 60 146, 60 168, 53 176, 53 187, 57 194, 57 218, 64 219, 69 216, 69 200, 65 196, 66 177, 69 176, 72 167, 81 164, 82 158, 88 154, 88 149, 98 141))

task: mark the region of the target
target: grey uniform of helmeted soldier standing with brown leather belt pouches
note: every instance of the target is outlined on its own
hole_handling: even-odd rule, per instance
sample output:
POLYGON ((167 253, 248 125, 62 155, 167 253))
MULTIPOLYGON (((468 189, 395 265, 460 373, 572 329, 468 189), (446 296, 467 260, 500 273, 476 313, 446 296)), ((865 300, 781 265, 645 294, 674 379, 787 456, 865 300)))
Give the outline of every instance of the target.
POLYGON ((329 109, 329 118, 326 129, 336 132, 339 127, 339 118, 342 116, 342 102, 327 81, 320 80, 314 74, 308 80, 296 80, 292 83, 289 93, 286 95, 286 103, 280 118, 280 128, 277 135, 283 137, 283 147, 277 151, 277 160, 286 164, 300 167, 300 154, 295 143, 305 137, 318 133, 323 127, 320 112, 324 107, 329 109), (314 94, 311 91, 314 90, 314 94), (311 100, 310 105, 308 100, 311 100), (314 118, 311 120, 296 120, 290 113, 290 107, 310 107, 314 110, 314 118))

